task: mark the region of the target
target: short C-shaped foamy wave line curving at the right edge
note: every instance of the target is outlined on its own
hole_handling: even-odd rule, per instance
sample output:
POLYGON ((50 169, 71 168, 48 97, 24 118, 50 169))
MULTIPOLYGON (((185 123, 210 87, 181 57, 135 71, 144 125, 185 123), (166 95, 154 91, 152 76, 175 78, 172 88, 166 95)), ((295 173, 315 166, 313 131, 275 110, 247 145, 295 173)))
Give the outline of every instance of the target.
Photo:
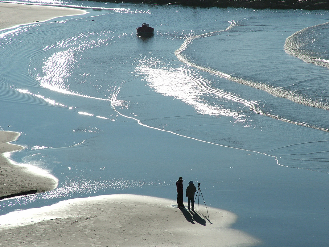
POLYGON ((322 23, 319 25, 315 25, 312 27, 306 27, 298 32, 295 32, 294 34, 292 34, 291 36, 289 36, 286 39, 285 45, 284 45, 284 49, 285 51, 291 55, 291 56, 295 56, 297 58, 299 58, 300 60, 306 62, 306 63, 311 63, 311 64, 315 64, 318 66, 323 66, 323 67, 327 67, 329 68, 329 60, 327 59, 321 59, 321 58, 316 58, 316 57, 311 57, 307 54, 305 54, 303 52, 303 50, 301 49, 303 47, 303 43, 300 42, 299 37, 300 36, 304 36, 304 33, 307 32, 310 29, 314 29, 317 27, 321 27, 324 25, 328 25, 329 22, 326 23, 322 23))

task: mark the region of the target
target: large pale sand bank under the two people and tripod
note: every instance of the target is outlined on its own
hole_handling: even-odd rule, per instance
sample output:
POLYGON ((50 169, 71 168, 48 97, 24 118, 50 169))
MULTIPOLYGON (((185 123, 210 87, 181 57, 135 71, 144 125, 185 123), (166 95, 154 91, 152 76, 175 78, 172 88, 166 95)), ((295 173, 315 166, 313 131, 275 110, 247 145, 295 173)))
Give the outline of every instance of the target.
POLYGON ((176 202, 139 195, 76 198, 0 216, 4 246, 254 246, 231 229, 236 215, 204 206, 181 211, 176 202), (208 217, 208 216, 207 216, 208 217))

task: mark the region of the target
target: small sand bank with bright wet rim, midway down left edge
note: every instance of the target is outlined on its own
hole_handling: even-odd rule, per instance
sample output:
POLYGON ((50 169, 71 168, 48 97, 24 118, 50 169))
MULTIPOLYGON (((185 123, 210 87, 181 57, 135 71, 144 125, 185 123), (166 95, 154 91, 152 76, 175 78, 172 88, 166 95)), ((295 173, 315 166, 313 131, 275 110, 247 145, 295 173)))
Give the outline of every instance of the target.
MULTIPOLYGON (((19 133, 0 131, 0 199, 55 189, 58 180, 41 169, 13 164, 4 153, 18 151, 22 146, 11 144, 19 133)), ((1 244, 0 244, 1 245, 1 244)))

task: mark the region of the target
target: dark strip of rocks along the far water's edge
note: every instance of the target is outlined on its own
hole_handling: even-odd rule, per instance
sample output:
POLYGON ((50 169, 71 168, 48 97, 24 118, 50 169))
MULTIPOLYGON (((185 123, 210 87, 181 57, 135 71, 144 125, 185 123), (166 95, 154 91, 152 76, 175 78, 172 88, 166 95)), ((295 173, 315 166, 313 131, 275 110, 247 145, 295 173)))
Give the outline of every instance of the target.
POLYGON ((329 10, 329 1, 325 0, 98 0, 100 2, 126 2, 146 4, 177 4, 183 6, 252 8, 252 9, 304 9, 329 10))

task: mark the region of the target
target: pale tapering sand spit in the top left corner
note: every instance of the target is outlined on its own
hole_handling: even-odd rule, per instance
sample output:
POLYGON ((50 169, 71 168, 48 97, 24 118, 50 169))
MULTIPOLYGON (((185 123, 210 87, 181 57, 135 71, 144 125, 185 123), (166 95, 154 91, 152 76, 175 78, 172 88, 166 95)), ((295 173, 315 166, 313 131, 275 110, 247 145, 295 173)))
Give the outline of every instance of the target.
POLYGON ((73 8, 0 3, 0 30, 37 21, 47 21, 60 16, 86 13, 88 12, 73 8))

